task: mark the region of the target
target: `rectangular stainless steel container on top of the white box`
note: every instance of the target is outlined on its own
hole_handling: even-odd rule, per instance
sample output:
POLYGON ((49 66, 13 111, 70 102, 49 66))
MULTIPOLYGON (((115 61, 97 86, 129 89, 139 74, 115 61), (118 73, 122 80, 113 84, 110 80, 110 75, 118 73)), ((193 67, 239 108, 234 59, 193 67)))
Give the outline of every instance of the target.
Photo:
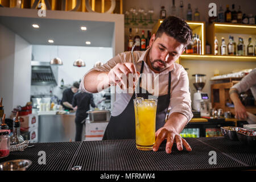
POLYGON ((87 111, 89 114, 89 120, 91 122, 94 121, 109 121, 110 119, 110 111, 109 110, 89 110, 87 111))

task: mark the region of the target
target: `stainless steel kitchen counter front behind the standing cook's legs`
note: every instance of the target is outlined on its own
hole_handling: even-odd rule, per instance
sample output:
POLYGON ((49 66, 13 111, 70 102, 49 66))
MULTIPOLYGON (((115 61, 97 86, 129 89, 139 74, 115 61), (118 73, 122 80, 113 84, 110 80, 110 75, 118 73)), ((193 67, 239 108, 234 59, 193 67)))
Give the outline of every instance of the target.
MULTIPOLYGON (((39 115, 38 142, 69 142, 75 141, 75 113, 39 115)), ((84 129, 82 130, 84 140, 84 129)))

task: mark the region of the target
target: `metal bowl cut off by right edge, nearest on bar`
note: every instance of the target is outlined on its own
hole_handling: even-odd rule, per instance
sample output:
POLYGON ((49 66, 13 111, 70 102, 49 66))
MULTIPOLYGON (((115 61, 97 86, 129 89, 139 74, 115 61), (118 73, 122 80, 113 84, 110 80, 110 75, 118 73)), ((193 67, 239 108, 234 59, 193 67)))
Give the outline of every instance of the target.
POLYGON ((237 138, 241 143, 250 146, 256 147, 256 131, 253 130, 238 130, 237 138))

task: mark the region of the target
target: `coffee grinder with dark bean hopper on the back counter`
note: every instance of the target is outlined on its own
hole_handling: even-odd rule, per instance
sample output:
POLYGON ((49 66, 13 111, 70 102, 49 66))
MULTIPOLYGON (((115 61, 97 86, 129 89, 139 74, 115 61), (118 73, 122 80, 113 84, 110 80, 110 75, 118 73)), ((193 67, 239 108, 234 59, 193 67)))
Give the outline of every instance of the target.
POLYGON ((195 74, 193 76, 193 85, 196 92, 193 94, 193 109, 200 112, 201 116, 209 116, 207 110, 207 102, 209 100, 208 94, 201 92, 205 86, 206 75, 195 74))

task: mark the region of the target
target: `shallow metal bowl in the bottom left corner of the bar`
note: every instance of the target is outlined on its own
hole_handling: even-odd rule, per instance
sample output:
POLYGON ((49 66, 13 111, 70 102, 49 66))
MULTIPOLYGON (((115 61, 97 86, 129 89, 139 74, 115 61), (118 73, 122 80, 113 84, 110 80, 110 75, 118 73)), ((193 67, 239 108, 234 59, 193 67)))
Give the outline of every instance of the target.
POLYGON ((27 159, 9 160, 0 163, 0 171, 26 171, 31 164, 27 159))

